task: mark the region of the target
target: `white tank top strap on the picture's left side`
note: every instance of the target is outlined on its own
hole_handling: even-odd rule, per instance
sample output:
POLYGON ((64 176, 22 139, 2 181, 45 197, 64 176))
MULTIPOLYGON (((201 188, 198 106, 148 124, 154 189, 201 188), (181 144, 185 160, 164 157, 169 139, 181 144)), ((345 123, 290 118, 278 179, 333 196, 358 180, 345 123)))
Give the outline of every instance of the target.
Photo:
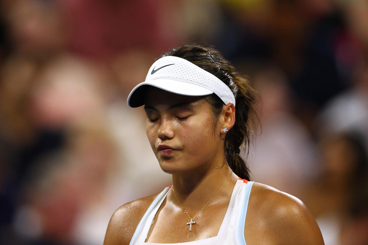
POLYGON ((141 221, 139 221, 139 224, 138 224, 137 228, 135 229, 135 232, 133 234, 132 239, 130 240, 129 245, 143 244, 144 243, 144 241, 147 238, 149 228, 151 227, 151 225, 153 223, 153 220, 154 220, 153 217, 155 217, 155 215, 156 215, 158 209, 160 208, 162 202, 166 198, 167 192, 169 192, 171 186, 166 187, 162 192, 160 192, 160 194, 155 198, 155 200, 153 200, 151 205, 149 205, 146 213, 142 217, 141 221))

